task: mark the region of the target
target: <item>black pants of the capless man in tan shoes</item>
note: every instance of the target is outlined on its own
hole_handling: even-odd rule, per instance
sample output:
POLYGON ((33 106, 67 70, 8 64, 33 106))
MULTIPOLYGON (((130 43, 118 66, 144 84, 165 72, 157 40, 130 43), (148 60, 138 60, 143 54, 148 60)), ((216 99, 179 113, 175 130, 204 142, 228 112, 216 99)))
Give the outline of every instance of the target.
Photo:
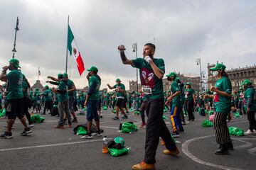
POLYGON ((145 157, 146 164, 156 163, 156 149, 159 145, 159 137, 164 140, 166 148, 170 151, 176 150, 176 144, 171 137, 169 129, 163 120, 164 113, 164 98, 163 99, 148 99, 146 101, 146 143, 145 157))

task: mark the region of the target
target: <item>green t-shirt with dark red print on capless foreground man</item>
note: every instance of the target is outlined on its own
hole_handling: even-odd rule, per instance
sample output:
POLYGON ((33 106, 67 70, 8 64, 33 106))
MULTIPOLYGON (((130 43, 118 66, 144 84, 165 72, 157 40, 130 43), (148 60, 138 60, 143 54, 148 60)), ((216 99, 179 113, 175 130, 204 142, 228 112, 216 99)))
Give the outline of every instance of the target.
MULTIPOLYGON (((133 67, 139 69, 142 86, 149 86, 151 88, 152 94, 147 95, 147 97, 151 99, 164 99, 163 80, 156 77, 150 64, 147 63, 143 58, 137 58, 135 60, 132 60, 132 62, 134 63, 133 67)), ((165 72, 163 59, 154 58, 153 62, 154 64, 156 64, 157 67, 159 67, 159 69, 161 69, 161 71, 165 72)))

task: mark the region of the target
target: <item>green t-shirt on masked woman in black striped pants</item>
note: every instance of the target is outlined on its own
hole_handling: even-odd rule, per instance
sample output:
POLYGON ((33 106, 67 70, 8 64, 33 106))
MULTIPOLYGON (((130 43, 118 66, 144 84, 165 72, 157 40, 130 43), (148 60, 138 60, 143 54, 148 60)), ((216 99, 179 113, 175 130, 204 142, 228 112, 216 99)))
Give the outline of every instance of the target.
MULTIPOLYGON (((228 94, 231 94, 232 91, 231 82, 227 77, 221 77, 221 79, 218 79, 216 81, 215 88, 228 94)), ((216 94, 214 102, 216 112, 230 113, 231 97, 216 94)))

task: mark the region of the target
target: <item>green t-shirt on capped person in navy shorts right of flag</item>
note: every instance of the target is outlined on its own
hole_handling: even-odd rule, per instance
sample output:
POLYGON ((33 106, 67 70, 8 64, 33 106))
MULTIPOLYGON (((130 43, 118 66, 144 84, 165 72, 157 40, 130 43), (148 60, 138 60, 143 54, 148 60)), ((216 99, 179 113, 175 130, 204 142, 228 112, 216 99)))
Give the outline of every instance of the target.
POLYGON ((101 80, 100 77, 97 76, 92 76, 89 79, 89 90, 88 90, 88 95, 90 95, 89 101, 92 100, 100 100, 100 85, 101 85, 101 80))

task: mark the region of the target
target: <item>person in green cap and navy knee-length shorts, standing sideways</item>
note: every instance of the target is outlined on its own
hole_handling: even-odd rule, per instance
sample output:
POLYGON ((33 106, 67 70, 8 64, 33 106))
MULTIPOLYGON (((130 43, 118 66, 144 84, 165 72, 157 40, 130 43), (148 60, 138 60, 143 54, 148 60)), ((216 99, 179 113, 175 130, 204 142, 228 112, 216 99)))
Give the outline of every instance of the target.
POLYGON ((100 132, 100 118, 97 113, 97 107, 100 101, 100 85, 101 79, 100 76, 97 74, 98 69, 97 67, 92 66, 90 69, 87 69, 87 80, 89 82, 89 89, 87 91, 87 96, 85 99, 84 106, 87 106, 87 135, 82 135, 80 138, 82 139, 92 139, 92 136, 101 136, 100 132), (96 124, 96 132, 91 133, 92 128, 92 120, 95 120, 96 124))

